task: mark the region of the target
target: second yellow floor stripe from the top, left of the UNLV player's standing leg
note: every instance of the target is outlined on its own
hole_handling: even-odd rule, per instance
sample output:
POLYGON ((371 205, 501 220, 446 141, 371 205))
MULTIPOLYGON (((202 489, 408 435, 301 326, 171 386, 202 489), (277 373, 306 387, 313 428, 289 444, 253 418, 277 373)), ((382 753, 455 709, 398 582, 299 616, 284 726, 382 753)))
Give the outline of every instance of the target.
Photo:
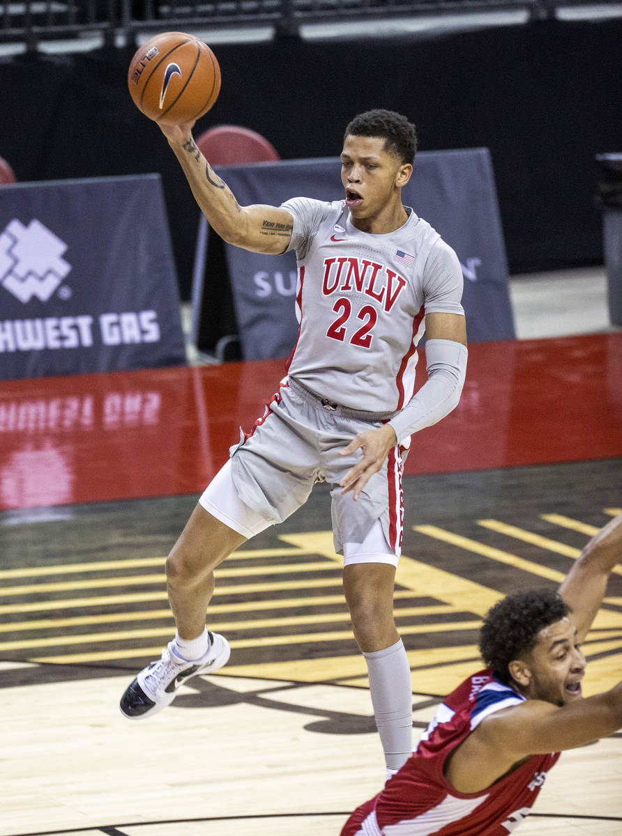
MULTIPOLYGON (((218 568, 216 579, 219 578, 247 578, 255 575, 265 574, 294 574, 301 572, 333 572, 335 566, 326 560, 314 561, 312 563, 289 563, 279 566, 255 566, 252 572, 248 568, 218 568)), ((140 586, 141 584, 164 584, 166 581, 162 574, 130 575, 118 578, 93 578, 90 580, 60 581, 58 584, 28 584, 24 586, 5 586, 0 589, 0 596, 7 595, 28 595, 42 592, 65 592, 69 589, 101 589, 111 586, 140 586)))

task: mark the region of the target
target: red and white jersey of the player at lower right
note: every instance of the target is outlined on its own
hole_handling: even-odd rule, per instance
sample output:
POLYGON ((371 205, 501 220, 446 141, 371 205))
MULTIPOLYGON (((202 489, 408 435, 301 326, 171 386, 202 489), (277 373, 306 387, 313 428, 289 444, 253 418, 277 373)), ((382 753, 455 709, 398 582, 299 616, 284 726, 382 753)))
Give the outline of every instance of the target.
POLYGON ((482 720, 522 701, 490 670, 470 676, 445 699, 383 791, 352 813, 342 836, 507 836, 527 817, 559 752, 530 757, 481 793, 457 793, 443 772, 482 720))

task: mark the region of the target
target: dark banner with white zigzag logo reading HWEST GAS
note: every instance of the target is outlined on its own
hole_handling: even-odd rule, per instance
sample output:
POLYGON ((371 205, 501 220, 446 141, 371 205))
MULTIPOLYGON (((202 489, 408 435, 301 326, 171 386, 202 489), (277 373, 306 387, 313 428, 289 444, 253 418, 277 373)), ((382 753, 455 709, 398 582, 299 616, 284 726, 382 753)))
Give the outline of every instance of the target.
POLYGON ((158 175, 0 187, 0 379, 184 362, 158 175))

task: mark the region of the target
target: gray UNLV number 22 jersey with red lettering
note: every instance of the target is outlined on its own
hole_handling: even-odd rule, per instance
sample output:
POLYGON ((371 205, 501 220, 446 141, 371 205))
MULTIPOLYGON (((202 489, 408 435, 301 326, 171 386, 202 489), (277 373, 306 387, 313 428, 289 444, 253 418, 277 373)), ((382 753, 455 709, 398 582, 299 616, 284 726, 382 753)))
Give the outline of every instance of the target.
POLYGON ((288 249, 296 250, 300 327, 288 372, 356 410, 401 410, 414 392, 424 314, 464 314, 455 252, 407 207, 394 232, 354 227, 345 201, 296 197, 288 249))

